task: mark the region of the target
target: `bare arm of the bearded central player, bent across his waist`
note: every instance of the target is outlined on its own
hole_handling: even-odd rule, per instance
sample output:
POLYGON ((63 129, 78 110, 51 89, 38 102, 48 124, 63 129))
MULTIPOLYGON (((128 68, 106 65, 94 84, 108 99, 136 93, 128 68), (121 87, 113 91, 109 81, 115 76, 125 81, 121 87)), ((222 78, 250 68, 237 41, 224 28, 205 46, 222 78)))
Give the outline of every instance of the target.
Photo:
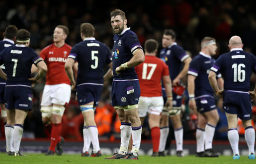
POLYGON ((133 56, 131 60, 121 64, 119 67, 116 67, 116 74, 120 74, 120 71, 123 71, 127 68, 135 67, 140 63, 144 62, 145 56, 141 48, 136 49, 132 54, 133 56))

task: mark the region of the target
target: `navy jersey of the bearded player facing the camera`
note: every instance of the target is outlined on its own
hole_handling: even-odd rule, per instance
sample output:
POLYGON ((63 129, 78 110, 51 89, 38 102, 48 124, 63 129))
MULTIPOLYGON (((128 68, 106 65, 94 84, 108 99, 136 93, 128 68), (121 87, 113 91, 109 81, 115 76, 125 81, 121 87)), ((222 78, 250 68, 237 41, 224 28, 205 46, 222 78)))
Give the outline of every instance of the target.
POLYGON ((138 79, 134 67, 121 71, 120 75, 116 74, 116 67, 131 60, 132 53, 139 48, 142 49, 140 41, 130 28, 125 29, 120 35, 115 34, 112 50, 114 80, 138 79))

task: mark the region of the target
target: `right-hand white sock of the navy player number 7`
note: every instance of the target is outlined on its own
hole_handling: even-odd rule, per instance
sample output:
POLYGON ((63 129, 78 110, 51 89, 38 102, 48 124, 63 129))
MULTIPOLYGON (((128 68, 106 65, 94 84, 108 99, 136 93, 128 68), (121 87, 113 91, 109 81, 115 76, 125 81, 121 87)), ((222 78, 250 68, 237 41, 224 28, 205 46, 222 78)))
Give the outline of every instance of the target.
POLYGON ((13 151, 15 153, 19 152, 19 145, 21 142, 22 134, 23 134, 23 125, 15 124, 14 130, 13 130, 13 151))

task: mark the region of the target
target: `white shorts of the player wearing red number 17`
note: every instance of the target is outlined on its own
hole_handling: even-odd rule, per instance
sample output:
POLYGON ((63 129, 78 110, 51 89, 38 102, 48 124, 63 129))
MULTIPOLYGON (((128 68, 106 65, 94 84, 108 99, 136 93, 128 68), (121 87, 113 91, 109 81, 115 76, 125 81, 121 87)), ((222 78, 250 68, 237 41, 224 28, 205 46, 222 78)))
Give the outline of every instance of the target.
POLYGON ((147 112, 160 115, 163 111, 163 97, 143 97, 139 99, 139 116, 146 117, 147 112))

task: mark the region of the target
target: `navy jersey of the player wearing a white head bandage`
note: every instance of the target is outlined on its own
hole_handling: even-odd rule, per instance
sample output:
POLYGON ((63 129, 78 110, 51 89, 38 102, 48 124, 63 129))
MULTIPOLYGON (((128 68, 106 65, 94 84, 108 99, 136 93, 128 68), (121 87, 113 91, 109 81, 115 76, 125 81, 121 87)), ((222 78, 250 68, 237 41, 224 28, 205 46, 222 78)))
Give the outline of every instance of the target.
MULTIPOLYGON (((210 68, 215 63, 215 60, 206 55, 203 52, 199 52, 199 55, 195 56, 190 62, 188 69, 188 75, 195 76, 195 97, 198 96, 213 96, 213 89, 209 83, 208 75, 210 68)), ((218 74, 217 78, 221 78, 221 74, 218 74)))

